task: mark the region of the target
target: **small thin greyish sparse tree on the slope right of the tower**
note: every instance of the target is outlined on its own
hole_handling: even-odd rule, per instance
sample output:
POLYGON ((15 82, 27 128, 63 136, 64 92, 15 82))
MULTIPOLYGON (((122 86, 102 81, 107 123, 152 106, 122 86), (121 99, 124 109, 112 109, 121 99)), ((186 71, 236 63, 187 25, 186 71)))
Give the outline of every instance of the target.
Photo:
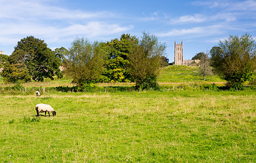
POLYGON ((200 62, 199 62, 199 69, 204 76, 204 80, 206 80, 206 75, 210 75, 212 73, 212 69, 210 67, 210 58, 208 57, 208 53, 202 52, 202 55, 200 55, 200 62))

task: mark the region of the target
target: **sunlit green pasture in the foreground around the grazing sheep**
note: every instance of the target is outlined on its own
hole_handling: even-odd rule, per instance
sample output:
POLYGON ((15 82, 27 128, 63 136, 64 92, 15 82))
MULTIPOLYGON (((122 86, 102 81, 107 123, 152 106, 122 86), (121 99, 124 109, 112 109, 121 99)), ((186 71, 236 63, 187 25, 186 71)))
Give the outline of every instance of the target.
POLYGON ((0 95, 0 162, 256 162, 255 95, 0 95), (37 103, 57 116, 35 117, 37 103))

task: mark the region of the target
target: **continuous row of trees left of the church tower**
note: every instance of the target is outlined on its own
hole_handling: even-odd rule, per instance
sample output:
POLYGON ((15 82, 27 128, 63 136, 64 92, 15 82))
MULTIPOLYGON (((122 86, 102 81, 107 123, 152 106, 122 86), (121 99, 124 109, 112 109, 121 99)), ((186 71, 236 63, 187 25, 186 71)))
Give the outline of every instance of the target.
POLYGON ((148 33, 141 39, 123 34, 107 42, 77 38, 68 50, 54 51, 44 40, 29 36, 18 41, 12 55, 3 59, 5 83, 42 82, 55 75, 62 77, 64 72, 80 87, 97 82, 135 82, 136 88, 157 89, 159 68, 169 65, 165 43, 148 33), (61 72, 60 66, 65 71, 61 72))

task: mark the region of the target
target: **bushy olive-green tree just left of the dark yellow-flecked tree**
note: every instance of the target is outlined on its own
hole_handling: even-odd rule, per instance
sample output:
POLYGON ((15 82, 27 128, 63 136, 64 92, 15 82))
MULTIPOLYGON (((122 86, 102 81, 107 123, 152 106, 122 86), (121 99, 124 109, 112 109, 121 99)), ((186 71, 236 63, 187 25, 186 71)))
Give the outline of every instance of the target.
POLYGON ((78 86, 97 82, 101 78, 105 55, 106 52, 97 41, 90 43, 87 39, 77 38, 71 43, 66 56, 67 74, 78 86))

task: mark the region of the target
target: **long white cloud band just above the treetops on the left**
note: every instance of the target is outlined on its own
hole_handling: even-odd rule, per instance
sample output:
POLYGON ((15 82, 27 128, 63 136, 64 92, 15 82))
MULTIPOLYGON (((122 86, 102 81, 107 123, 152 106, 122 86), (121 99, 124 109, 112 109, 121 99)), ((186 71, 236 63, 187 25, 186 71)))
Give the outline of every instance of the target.
MULTIPOLYGON (((3 25, 0 25, 0 27, 2 26, 3 25)), ((125 31, 129 31, 131 29, 133 29, 133 26, 120 26, 118 24, 110 24, 107 22, 88 22, 87 24, 71 24, 64 27, 33 23, 12 23, 7 24, 5 29, 0 31, 0 35, 5 37, 0 39, 0 44, 14 44, 17 42, 17 39, 22 39, 22 37, 28 35, 42 37, 42 39, 50 41, 49 43, 61 41, 63 39, 74 39, 78 35, 82 35, 89 39, 95 39, 99 36, 112 35, 114 33, 125 33, 125 31), (16 38, 10 39, 12 35, 15 35, 16 38)))

